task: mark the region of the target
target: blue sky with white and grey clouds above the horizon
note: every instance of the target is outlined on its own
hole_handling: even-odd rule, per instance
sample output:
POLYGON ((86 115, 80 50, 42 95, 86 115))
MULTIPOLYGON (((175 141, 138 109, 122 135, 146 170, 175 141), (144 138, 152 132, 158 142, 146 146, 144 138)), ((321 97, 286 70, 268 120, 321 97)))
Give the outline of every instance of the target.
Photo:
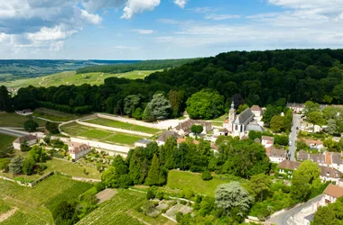
POLYGON ((0 0, 0 58, 161 59, 339 49, 343 0, 0 0))

